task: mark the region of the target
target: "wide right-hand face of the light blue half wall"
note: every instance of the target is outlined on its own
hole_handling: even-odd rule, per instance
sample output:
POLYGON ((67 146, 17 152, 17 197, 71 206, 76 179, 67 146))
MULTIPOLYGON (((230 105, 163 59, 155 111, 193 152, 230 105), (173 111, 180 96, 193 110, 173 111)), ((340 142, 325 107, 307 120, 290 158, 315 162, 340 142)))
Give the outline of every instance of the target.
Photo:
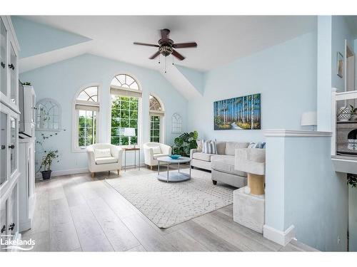
POLYGON ((346 176, 333 170, 331 138, 286 138, 284 148, 286 226, 293 224, 296 239, 309 246, 346 251, 348 189, 346 176))

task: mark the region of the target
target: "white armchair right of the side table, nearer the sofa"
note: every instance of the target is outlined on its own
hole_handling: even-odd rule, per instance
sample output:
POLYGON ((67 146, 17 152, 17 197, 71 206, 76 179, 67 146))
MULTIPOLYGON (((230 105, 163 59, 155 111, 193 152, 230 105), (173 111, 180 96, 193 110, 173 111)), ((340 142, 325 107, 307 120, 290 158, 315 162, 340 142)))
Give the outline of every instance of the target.
POLYGON ((145 164, 153 169, 159 164, 157 158, 171 155, 172 148, 169 145, 147 142, 143 145, 145 164))

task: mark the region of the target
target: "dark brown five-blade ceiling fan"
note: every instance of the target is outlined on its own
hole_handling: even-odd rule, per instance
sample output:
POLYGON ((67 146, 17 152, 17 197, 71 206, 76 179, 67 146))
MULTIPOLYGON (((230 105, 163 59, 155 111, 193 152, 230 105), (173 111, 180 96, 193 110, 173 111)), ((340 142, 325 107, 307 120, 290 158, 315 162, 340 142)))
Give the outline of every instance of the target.
POLYGON ((151 43, 139 43, 139 42, 134 42, 136 45, 140 46, 154 46, 159 48, 159 51, 154 53, 153 56, 150 57, 150 59, 154 59, 160 54, 162 56, 169 56, 172 54, 172 56, 175 56, 178 58, 179 61, 183 61, 185 59, 184 56, 182 56, 180 53, 178 53, 174 48, 196 48, 197 43, 196 42, 191 42, 191 43, 174 43, 169 38, 170 30, 168 28, 164 28, 160 30, 161 33, 161 39, 158 41, 159 45, 156 44, 151 44, 151 43))

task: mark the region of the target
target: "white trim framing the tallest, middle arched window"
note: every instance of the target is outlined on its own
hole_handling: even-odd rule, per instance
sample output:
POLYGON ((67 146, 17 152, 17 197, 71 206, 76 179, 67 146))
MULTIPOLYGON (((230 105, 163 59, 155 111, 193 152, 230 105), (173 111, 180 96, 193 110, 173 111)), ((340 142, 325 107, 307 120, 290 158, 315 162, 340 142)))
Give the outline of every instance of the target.
MULTIPOLYGON (((139 82, 139 80, 136 78, 135 75, 133 75, 132 73, 128 73, 128 72, 120 72, 120 73, 117 73, 115 74, 114 76, 112 76, 113 78, 111 79, 111 81, 116 78, 116 76, 118 75, 121 75, 121 74, 124 74, 124 75, 129 75, 131 78, 133 78, 135 81, 136 81, 136 84, 138 85, 138 88, 139 89, 131 89, 131 88, 122 88, 120 86, 117 86, 117 85, 112 85, 110 83, 110 86, 109 86, 109 98, 110 98, 110 105, 109 105, 109 122, 108 122, 108 137, 107 137, 107 142, 109 144, 111 144, 111 95, 113 95, 111 93, 111 88, 113 87, 114 89, 118 89, 118 90, 126 90, 126 91, 129 91, 129 92, 133 92, 134 90, 135 91, 139 91, 139 93, 141 94, 141 97, 138 96, 138 144, 137 144, 137 147, 142 147, 143 145, 143 132, 142 132, 142 118, 143 118, 143 108, 142 108, 142 105, 143 105, 143 93, 144 91, 142 90, 142 87, 141 87, 141 83, 139 82)), ((122 96, 125 96, 125 95, 122 95, 122 96)), ((127 147, 126 145, 119 145, 119 147, 127 147)))

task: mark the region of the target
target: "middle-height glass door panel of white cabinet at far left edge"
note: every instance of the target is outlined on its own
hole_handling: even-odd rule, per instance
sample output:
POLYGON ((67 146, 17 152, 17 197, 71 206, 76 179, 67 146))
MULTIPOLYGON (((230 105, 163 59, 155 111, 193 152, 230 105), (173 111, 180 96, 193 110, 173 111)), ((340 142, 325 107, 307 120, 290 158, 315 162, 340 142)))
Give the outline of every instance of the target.
POLYGON ((0 186, 7 177, 7 114, 0 112, 0 186))

